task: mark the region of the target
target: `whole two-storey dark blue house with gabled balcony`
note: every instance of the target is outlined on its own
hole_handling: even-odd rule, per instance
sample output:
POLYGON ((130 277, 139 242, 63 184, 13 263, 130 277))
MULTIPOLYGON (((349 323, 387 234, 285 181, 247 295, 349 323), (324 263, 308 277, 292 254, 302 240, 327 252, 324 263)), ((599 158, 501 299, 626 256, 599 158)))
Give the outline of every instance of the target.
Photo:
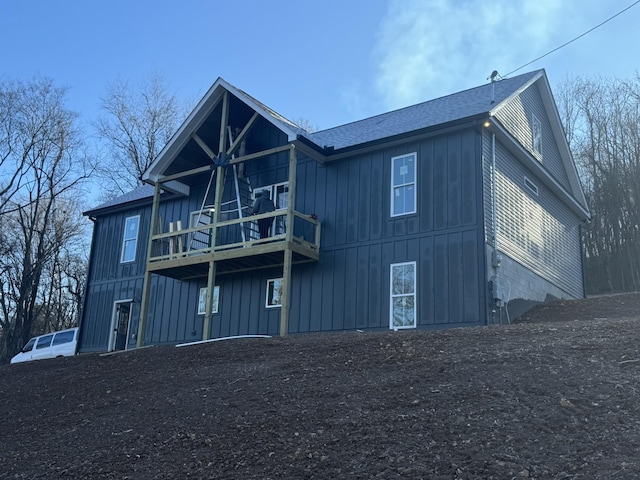
POLYGON ((589 212, 543 70, 314 133, 218 79, 143 180, 86 212, 81 352, 584 296, 589 212), (275 210, 250 215, 256 192, 275 210))

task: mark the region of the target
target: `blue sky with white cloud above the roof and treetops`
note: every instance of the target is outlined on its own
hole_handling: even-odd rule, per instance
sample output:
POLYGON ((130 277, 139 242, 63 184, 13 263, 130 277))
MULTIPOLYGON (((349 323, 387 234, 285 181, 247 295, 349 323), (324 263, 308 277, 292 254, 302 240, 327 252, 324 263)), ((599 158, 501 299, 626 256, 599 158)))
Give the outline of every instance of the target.
POLYGON ((222 77, 324 129, 494 70, 632 78, 639 26, 636 0, 0 0, 0 82, 51 78, 90 125, 116 81, 160 74, 191 109, 222 77))

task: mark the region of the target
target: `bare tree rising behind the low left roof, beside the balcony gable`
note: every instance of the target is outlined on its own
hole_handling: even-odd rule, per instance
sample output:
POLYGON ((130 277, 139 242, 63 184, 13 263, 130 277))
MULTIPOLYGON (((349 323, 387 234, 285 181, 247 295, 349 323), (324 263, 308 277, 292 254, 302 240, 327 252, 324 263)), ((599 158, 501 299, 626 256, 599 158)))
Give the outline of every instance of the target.
POLYGON ((107 181, 105 196, 112 197, 140 185, 140 177, 175 132, 184 109, 158 74, 139 88, 123 80, 111 84, 102 109, 106 116, 96 128, 109 155, 100 173, 107 181))

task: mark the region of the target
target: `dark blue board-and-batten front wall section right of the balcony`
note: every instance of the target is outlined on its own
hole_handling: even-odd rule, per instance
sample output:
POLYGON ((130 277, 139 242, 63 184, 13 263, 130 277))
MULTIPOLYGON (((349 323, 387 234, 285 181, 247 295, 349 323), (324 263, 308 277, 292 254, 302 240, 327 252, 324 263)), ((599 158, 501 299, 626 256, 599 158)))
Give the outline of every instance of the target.
POLYGON ((390 265, 412 261, 419 328, 484 323, 479 151, 469 129, 303 162, 296 208, 318 215, 322 242, 317 265, 294 268, 290 331, 388 328, 390 265), (391 217, 391 159, 413 152, 417 212, 391 217))

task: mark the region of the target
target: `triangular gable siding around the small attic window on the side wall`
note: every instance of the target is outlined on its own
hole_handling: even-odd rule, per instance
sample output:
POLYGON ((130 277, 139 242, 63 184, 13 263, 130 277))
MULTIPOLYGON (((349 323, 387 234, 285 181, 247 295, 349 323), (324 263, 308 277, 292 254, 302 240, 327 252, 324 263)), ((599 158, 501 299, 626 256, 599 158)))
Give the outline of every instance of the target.
POLYGON ((565 189, 571 191, 569 177, 560 156, 557 139, 551 129, 549 114, 545 110, 537 83, 500 108, 496 112, 496 118, 565 189), (542 127, 542 155, 533 150, 533 115, 540 121, 542 127))

